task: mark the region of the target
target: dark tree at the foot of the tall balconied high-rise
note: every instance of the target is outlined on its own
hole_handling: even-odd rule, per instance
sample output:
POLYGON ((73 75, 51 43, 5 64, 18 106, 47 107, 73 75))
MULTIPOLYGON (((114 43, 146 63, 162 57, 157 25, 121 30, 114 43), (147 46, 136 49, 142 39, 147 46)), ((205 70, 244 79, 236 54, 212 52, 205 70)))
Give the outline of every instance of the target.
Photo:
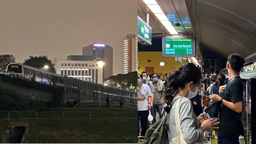
POLYGON ((108 80, 114 82, 115 84, 119 84, 122 89, 131 89, 134 91, 137 87, 138 83, 136 83, 136 76, 138 72, 130 72, 128 74, 118 74, 116 76, 108 77, 108 80))

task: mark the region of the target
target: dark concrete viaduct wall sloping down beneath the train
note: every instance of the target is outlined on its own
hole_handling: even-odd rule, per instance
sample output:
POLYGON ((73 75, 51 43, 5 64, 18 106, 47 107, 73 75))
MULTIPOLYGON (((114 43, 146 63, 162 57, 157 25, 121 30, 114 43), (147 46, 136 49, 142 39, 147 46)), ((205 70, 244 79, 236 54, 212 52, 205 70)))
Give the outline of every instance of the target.
POLYGON ((39 100, 51 103, 52 107, 64 107, 68 101, 105 101, 110 98, 112 102, 124 100, 126 103, 137 104, 137 99, 133 98, 129 92, 123 96, 109 94, 104 91, 94 91, 93 89, 79 89, 71 87, 52 87, 27 80, 12 78, 0 74, 0 88, 9 92, 17 93, 20 96, 28 97, 32 100, 39 100))

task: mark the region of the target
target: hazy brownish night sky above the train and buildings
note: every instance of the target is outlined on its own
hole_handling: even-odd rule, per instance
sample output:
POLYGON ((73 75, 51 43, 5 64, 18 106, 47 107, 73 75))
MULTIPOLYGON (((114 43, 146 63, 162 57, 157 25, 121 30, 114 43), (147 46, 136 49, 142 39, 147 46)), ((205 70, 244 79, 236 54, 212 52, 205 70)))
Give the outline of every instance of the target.
POLYGON ((123 70, 123 38, 137 33, 137 0, 1 0, 0 54, 66 60, 82 47, 114 48, 113 74, 123 70))

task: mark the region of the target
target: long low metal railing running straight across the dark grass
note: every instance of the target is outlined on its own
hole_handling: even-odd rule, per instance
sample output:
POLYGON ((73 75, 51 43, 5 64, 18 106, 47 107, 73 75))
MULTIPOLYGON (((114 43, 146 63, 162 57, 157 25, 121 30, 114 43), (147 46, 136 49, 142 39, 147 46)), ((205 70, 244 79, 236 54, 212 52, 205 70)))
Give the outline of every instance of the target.
POLYGON ((135 112, 0 111, 0 119, 137 119, 137 115, 135 112))

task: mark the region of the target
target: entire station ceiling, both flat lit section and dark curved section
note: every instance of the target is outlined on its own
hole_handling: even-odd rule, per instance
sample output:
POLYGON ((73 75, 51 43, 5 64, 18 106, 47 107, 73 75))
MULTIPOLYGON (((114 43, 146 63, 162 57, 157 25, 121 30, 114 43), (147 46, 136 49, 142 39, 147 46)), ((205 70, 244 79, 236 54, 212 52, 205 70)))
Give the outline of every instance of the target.
MULTIPOLYGON (((177 32, 181 36, 196 36, 202 49, 225 58, 231 53, 241 54, 245 58, 255 57, 256 3, 253 0, 156 1, 172 25, 181 23, 181 28, 175 27, 177 32)), ((142 0, 138 0, 138 15, 145 20, 148 9, 143 4, 142 0)), ((168 35, 157 18, 150 17, 152 38, 168 35)))

